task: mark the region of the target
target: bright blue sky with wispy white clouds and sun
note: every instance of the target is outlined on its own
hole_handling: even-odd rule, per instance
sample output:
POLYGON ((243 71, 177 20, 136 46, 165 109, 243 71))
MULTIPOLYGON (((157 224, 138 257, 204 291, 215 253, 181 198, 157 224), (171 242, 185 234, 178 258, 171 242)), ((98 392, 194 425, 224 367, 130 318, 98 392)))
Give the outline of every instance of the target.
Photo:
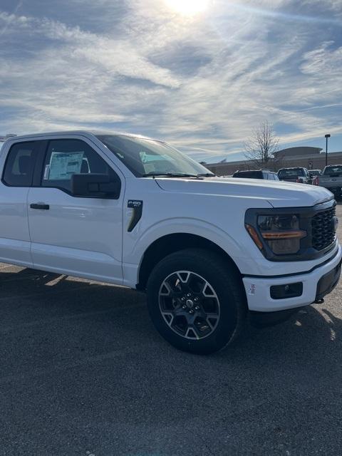
POLYGON ((342 150, 342 0, 0 0, 0 135, 93 129, 242 160, 342 150))

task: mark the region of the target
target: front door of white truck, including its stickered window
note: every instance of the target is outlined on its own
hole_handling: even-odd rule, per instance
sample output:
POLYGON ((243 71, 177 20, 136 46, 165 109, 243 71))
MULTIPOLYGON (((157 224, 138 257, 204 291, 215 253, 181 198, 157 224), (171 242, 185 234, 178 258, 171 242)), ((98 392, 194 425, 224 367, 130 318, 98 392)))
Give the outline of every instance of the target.
POLYGON ((42 168, 39 186, 28 192, 33 265, 120 284, 124 180, 117 199, 71 195, 75 173, 115 174, 86 140, 50 140, 42 168))

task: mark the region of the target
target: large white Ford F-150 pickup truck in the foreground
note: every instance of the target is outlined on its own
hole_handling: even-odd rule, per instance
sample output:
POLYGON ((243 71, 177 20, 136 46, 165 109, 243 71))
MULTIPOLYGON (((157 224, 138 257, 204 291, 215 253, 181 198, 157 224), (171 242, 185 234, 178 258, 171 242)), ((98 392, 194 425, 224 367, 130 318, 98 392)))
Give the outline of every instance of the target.
POLYGON ((6 140, 0 171, 0 261, 146 291, 185 351, 323 299, 341 273, 321 187, 220 178, 165 142, 83 131, 6 140))

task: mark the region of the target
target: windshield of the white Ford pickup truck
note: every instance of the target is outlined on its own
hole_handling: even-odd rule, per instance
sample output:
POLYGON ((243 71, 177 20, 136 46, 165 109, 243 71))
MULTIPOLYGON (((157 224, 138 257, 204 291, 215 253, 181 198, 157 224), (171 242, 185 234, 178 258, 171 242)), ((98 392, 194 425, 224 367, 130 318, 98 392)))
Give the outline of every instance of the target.
POLYGON ((96 137, 137 177, 214 176, 207 168, 165 142, 125 135, 96 135, 96 137))

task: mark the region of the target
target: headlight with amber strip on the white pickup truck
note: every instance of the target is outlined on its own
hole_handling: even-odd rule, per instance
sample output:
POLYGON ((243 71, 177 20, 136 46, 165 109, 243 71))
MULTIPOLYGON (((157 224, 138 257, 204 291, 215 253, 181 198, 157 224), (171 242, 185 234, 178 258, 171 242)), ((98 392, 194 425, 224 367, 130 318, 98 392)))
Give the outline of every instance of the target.
POLYGON ((299 218, 291 214, 259 215, 257 225, 262 239, 257 230, 246 225, 255 244, 261 249, 262 241, 265 242, 276 255, 296 254, 301 248, 301 239, 307 234, 299 229, 299 218))

